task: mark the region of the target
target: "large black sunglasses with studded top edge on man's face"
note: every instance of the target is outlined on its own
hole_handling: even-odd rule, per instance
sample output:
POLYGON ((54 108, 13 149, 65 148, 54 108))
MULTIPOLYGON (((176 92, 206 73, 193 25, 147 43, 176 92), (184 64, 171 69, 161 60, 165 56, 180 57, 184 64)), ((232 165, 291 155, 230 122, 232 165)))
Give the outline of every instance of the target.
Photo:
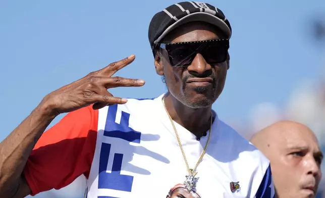
POLYGON ((218 64, 227 60, 229 39, 159 43, 158 46, 167 51, 173 67, 190 65, 198 53, 208 64, 218 64))

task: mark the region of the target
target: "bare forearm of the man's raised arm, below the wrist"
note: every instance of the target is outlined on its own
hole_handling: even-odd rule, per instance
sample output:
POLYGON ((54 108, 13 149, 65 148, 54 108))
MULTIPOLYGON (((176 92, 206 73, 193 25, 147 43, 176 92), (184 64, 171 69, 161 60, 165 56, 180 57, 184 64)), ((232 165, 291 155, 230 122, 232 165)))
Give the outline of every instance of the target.
POLYGON ((18 188, 33 147, 55 117, 40 105, 0 143, 0 194, 18 188))

